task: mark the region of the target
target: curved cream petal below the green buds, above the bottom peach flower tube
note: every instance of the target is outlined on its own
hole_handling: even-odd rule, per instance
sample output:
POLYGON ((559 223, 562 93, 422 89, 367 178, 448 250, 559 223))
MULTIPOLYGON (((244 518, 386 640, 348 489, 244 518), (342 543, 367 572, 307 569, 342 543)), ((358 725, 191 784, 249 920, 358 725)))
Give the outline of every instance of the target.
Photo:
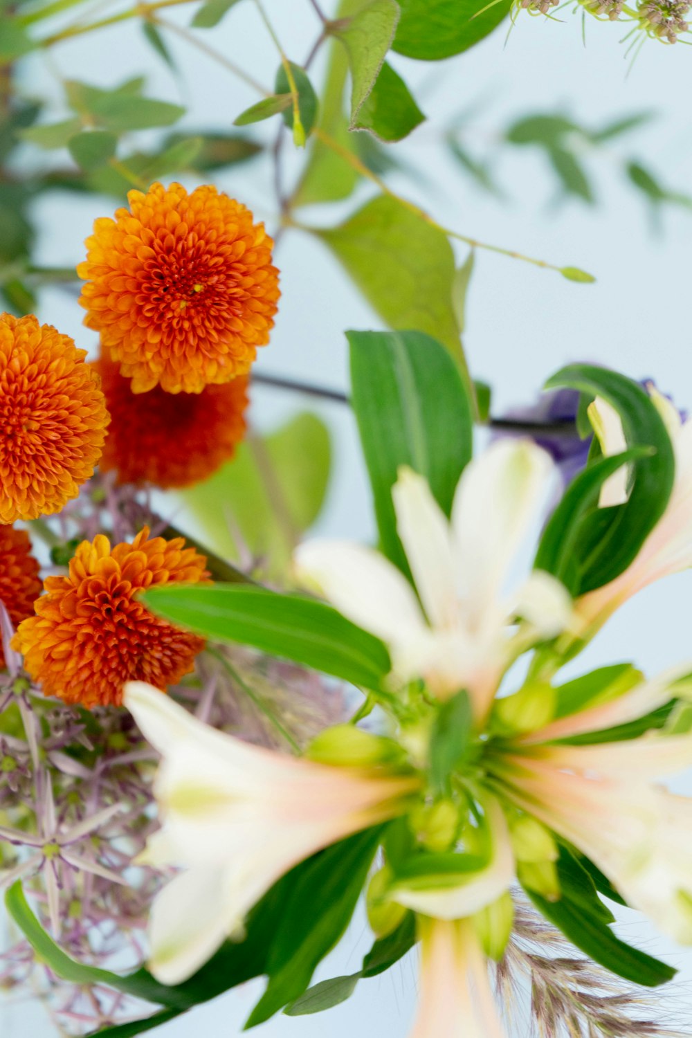
POLYGON ((515 856, 502 809, 493 799, 488 801, 487 812, 493 856, 485 869, 460 879, 456 886, 412 890, 397 885, 392 891, 392 900, 423 916, 446 920, 473 916, 497 901, 515 879, 515 856))

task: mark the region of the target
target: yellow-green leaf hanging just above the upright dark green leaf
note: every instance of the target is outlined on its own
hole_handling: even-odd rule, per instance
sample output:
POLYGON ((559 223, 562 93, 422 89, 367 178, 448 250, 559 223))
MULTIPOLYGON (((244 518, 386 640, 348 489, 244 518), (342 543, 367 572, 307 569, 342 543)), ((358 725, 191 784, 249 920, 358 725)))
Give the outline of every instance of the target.
POLYGON ((314 230, 390 328, 426 332, 461 358, 452 306, 454 254, 446 236, 380 195, 338 227, 314 230))

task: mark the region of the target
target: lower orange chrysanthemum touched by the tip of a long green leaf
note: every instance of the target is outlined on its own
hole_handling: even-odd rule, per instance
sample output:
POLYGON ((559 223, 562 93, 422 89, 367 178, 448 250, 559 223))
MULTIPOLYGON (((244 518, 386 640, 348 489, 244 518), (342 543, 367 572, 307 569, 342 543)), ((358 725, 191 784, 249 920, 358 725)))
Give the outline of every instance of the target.
POLYGON ((126 681, 165 689, 189 674, 204 639, 155 617, 138 600, 154 584, 206 583, 206 559, 182 537, 111 548, 99 534, 82 541, 68 576, 48 577, 35 617, 20 624, 12 648, 47 695, 85 707, 119 706, 126 681))

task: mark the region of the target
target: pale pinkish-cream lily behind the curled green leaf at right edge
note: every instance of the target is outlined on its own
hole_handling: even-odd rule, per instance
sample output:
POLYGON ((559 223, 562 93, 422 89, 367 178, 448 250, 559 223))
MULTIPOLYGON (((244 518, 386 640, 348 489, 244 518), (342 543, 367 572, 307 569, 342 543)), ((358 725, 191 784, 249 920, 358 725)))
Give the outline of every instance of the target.
MULTIPOLYGON (((627 599, 671 573, 692 566, 692 420, 682 422, 670 401, 656 389, 649 389, 663 417, 675 454, 675 482, 667 508, 644 541, 633 563, 614 580, 583 595, 576 603, 576 613, 583 628, 601 626, 627 599)), ((597 432, 606 456, 624 448, 622 426, 616 412, 604 401, 591 405, 597 432)), ((618 480, 625 470, 614 473, 618 480)), ((622 484, 604 484, 605 498, 601 506, 618 503, 622 484)))

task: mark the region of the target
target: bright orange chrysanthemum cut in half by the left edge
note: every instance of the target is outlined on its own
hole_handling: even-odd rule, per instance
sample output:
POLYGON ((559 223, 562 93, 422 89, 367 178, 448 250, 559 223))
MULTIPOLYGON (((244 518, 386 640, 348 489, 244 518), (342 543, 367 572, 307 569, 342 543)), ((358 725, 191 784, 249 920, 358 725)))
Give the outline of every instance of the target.
POLYGON ((0 523, 59 512, 93 472, 108 412, 68 335, 0 315, 0 523))

